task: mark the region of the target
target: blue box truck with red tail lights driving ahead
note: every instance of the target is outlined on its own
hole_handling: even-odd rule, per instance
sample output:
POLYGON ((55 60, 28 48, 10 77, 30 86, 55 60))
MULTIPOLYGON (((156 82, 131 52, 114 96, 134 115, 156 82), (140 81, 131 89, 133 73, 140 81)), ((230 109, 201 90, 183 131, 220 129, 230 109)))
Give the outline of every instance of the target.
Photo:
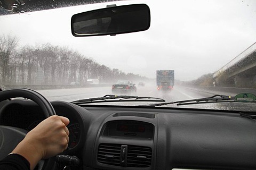
POLYGON ((157 90, 172 90, 174 86, 174 70, 156 71, 157 90))

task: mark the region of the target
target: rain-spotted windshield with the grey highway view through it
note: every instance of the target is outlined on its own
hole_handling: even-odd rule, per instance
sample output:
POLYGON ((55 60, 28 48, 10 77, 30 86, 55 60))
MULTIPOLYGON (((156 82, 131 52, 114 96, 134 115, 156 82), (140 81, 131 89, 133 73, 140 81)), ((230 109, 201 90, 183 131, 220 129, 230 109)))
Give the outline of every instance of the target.
MULTIPOLYGON (((68 102, 109 94, 166 102, 216 94, 256 95, 255 20, 254 0, 118 1, 1 15, 1 89, 30 88, 50 101, 68 102), (71 34, 74 14, 139 3, 150 8, 146 31, 98 37, 71 34)), ((256 111, 255 105, 177 107, 256 111)))

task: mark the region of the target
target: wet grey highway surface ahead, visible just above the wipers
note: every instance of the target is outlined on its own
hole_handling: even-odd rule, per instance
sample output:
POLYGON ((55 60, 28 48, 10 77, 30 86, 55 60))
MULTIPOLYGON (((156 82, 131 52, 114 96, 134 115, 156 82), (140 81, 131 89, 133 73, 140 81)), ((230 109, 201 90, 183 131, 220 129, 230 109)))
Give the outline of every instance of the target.
MULTIPOLYGON (((91 88, 75 88, 75 89, 54 89, 54 90, 38 90, 43 96, 49 100, 74 101, 78 99, 102 97, 112 94, 111 87, 91 87, 91 88)), ((116 95, 116 94, 114 94, 116 95)), ((120 95, 120 94, 117 94, 120 95)), ((124 94, 122 94, 124 95, 124 94)), ((198 94, 193 90, 184 87, 175 87, 172 91, 158 91, 156 86, 137 87, 136 96, 150 96, 163 98, 167 102, 176 100, 186 100, 193 98, 201 98, 209 96, 198 94)))

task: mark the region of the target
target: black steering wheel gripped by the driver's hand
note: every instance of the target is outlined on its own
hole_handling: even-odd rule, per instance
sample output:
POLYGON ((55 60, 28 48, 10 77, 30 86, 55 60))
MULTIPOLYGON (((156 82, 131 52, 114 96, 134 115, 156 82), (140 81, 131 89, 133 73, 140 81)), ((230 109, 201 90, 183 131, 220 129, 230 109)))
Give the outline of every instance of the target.
MULTIPOLYGON (((15 97, 24 97, 35 101, 35 103, 42 108, 45 118, 56 115, 51 103, 44 96, 34 90, 15 88, 0 92, 0 102, 15 97)), ((0 160, 6 157, 18 145, 18 143, 25 138, 27 132, 28 131, 20 128, 0 125, 0 160)))

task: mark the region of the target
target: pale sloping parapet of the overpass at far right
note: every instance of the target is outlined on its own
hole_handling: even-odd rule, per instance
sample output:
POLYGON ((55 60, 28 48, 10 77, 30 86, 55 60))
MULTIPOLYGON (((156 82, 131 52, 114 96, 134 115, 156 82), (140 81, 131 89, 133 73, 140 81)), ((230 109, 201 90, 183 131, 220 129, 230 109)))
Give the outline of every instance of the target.
POLYGON ((250 47, 246 48, 242 53, 240 53, 238 56, 236 56, 235 58, 233 58, 233 60, 231 60, 229 63, 227 63, 225 66, 221 67, 220 70, 218 70, 217 72, 215 72, 213 74, 213 77, 217 77, 220 73, 226 71, 228 68, 230 68, 231 66, 235 65, 236 63, 238 63, 239 61, 243 60, 245 57, 249 56, 250 54, 256 52, 256 42, 253 43, 250 47))

